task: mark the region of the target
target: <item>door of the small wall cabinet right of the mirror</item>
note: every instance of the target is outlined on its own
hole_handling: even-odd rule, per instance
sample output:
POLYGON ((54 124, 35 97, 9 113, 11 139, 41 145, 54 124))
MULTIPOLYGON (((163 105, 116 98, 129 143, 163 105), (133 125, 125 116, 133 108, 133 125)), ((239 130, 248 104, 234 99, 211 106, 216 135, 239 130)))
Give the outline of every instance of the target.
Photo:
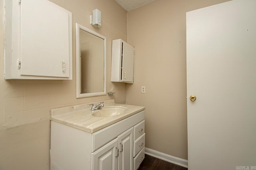
POLYGON ((134 71, 134 47, 128 43, 123 43, 123 60, 122 60, 122 81, 133 83, 134 71))

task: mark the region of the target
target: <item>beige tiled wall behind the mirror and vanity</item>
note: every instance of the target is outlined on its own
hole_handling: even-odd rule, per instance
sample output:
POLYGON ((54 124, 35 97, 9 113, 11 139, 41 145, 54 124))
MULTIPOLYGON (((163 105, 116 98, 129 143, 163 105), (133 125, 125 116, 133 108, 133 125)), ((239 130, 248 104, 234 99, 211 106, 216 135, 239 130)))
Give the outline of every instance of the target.
POLYGON ((126 85, 112 83, 112 39, 126 40, 126 11, 114 0, 54 0, 72 12, 73 80, 4 80, 4 0, 0 0, 0 170, 48 170, 50 109, 114 98, 126 100, 126 85), (102 27, 90 25, 95 8, 102 11, 102 27), (75 25, 78 22, 107 37, 107 92, 114 96, 76 99, 75 25))

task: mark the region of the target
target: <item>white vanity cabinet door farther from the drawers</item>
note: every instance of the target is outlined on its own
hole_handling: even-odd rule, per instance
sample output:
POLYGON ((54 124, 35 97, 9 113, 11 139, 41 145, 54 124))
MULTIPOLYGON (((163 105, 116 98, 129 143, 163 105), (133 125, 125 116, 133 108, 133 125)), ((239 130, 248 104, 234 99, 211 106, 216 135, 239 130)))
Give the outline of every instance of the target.
POLYGON ((118 139, 93 152, 91 158, 91 170, 117 170, 118 139))

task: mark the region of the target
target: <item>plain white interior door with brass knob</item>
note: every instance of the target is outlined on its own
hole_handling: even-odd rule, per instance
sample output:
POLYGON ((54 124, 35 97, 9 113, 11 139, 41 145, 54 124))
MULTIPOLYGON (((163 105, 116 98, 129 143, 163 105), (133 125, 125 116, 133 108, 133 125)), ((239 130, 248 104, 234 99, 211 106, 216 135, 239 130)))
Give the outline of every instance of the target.
POLYGON ((189 170, 256 166, 255 7, 233 0, 187 13, 189 170))

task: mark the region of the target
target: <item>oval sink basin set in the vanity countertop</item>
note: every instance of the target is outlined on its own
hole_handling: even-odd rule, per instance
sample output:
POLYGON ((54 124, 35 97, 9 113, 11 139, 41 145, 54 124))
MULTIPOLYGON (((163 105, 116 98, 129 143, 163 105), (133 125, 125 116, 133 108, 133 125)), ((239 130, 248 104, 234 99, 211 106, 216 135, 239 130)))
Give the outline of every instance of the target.
POLYGON ((92 116, 96 117, 109 117, 120 115, 128 109, 127 107, 122 106, 105 106, 102 109, 92 111, 92 116))

